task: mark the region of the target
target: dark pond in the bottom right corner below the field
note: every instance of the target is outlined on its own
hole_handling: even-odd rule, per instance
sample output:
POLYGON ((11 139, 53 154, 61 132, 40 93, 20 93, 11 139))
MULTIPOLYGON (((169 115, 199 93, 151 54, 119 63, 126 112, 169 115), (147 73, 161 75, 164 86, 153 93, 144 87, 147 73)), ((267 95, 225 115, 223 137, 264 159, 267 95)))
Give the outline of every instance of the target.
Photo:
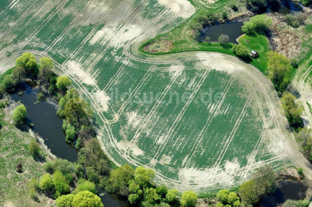
POLYGON ((300 200, 305 198, 306 186, 299 181, 286 180, 279 184, 273 195, 267 196, 262 202, 263 207, 276 207, 287 199, 300 200))

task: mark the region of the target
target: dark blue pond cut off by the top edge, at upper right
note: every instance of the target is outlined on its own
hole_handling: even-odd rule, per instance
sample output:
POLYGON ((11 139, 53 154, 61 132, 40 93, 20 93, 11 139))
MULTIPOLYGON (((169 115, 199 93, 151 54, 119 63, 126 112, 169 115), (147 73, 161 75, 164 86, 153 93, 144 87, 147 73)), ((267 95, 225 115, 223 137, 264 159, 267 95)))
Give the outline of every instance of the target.
POLYGON ((267 6, 268 12, 278 12, 281 14, 290 14, 292 12, 300 12, 302 8, 298 2, 293 1, 281 1, 281 2, 270 2, 267 6))

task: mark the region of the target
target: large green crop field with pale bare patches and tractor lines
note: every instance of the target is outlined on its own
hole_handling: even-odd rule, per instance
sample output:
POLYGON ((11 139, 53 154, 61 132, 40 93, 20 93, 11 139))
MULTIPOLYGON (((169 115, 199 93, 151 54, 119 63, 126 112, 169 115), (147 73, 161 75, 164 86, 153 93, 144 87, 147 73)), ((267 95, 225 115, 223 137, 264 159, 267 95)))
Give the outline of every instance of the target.
POLYGON ((139 51, 147 40, 181 29, 197 12, 192 4, 4 2, 0 72, 27 51, 51 57, 93 107, 98 139, 112 161, 155 169, 157 184, 205 195, 237 187, 261 165, 292 165, 287 120, 258 69, 229 49, 215 53, 220 45, 203 45, 214 52, 139 51))

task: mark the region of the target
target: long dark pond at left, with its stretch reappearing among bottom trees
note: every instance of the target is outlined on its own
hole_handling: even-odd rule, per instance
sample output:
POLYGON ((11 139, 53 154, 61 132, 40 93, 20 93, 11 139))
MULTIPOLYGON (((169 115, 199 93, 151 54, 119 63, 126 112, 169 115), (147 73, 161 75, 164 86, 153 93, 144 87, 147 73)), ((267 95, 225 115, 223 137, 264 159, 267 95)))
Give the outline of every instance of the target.
MULTIPOLYGON (((41 101, 35 104, 38 88, 26 86, 22 95, 12 94, 14 101, 21 101, 27 109, 27 119, 34 124, 32 130, 38 133, 46 146, 51 149, 51 153, 58 158, 77 162, 77 150, 65 141, 65 133, 62 129, 63 121, 56 115, 57 107, 48 101, 41 101)), ((99 190, 99 196, 105 207, 127 207, 127 202, 119 199, 116 195, 105 194, 99 190)))

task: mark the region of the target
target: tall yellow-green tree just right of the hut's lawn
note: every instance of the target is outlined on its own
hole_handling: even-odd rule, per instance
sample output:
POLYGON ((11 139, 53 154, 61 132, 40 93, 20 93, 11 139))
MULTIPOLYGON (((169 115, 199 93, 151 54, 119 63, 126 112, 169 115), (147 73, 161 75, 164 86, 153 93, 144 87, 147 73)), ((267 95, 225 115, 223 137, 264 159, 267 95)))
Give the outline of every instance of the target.
POLYGON ((289 78, 291 65, 289 59, 277 52, 269 51, 266 53, 268 58, 268 70, 269 70, 269 78, 275 84, 275 88, 279 89, 285 81, 285 78, 289 78))

